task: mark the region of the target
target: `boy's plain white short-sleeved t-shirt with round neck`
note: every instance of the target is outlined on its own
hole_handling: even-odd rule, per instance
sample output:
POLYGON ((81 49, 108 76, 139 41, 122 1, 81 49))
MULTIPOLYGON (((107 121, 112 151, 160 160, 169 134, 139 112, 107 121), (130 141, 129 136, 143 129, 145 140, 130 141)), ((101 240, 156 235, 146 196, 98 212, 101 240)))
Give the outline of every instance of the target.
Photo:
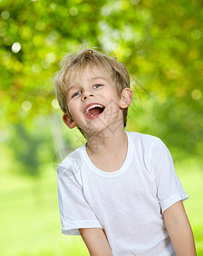
POLYGON ((116 172, 96 168, 85 144, 58 166, 61 232, 102 228, 113 256, 176 255, 162 212, 188 195, 158 137, 126 134, 127 156, 116 172))

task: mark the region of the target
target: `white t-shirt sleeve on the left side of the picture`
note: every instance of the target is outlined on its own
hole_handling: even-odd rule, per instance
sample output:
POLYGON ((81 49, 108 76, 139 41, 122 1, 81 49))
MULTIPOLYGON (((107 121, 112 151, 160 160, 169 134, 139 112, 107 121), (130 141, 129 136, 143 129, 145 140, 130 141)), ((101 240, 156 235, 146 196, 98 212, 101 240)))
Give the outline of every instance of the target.
POLYGON ((84 198, 83 189, 73 166, 58 166, 58 200, 61 215, 61 233, 80 235, 78 229, 102 228, 96 215, 84 198))

